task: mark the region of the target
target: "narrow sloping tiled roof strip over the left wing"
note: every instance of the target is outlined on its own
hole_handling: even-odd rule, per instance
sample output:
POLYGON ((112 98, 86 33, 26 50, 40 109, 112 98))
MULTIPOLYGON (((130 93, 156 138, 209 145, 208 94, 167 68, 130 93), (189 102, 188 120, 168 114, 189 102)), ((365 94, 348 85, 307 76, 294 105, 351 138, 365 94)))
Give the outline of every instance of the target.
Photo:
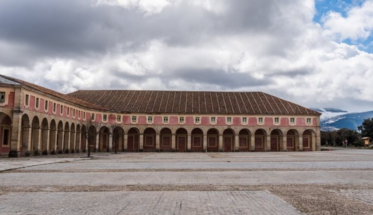
POLYGON ((23 86, 26 86, 26 87, 29 87, 29 88, 41 91, 43 93, 59 97, 60 99, 66 100, 68 102, 72 102, 72 103, 75 103, 77 105, 81 105, 81 106, 83 106, 85 108, 96 109, 96 110, 109 110, 109 109, 107 109, 105 107, 98 106, 98 105, 95 105, 95 104, 92 104, 92 103, 88 103, 88 102, 85 102, 84 100, 80 100, 80 99, 77 99, 75 97, 72 97, 72 96, 69 96, 69 95, 66 95, 66 94, 62 94, 62 93, 56 92, 54 90, 50 90, 50 89, 47 89, 45 87, 38 86, 36 84, 29 83, 27 81, 19 80, 17 78, 12 78, 12 77, 9 77, 9 76, 4 76, 4 75, 1 75, 1 74, 0 74, 0 77, 8 80, 7 82, 3 81, 2 83, 12 84, 12 85, 21 84, 23 86))

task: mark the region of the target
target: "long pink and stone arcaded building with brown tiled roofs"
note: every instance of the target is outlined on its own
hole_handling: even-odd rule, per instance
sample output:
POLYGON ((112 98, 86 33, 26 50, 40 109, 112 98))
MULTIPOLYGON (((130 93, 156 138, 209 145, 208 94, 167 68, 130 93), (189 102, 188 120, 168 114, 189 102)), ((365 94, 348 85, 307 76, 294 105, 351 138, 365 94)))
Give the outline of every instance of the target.
POLYGON ((0 75, 0 154, 9 157, 88 147, 99 152, 318 151, 320 115, 263 92, 62 94, 0 75))

